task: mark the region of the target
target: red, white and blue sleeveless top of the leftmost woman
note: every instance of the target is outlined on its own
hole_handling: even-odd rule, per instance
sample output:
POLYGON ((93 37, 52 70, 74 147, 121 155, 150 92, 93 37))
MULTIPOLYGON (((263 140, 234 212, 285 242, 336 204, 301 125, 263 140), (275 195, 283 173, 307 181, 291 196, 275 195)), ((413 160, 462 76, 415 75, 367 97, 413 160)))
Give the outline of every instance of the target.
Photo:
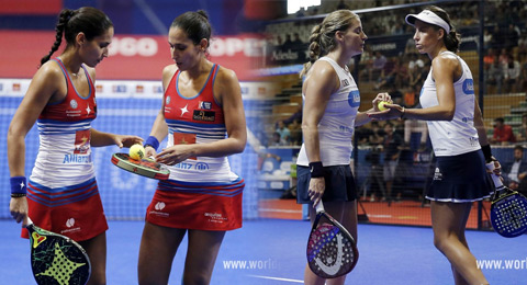
POLYGON ((47 104, 38 116, 40 147, 30 180, 55 189, 94 178, 90 128, 97 103, 93 82, 83 65, 90 87, 86 96, 77 92, 60 59, 53 60, 60 66, 68 91, 63 101, 47 104))

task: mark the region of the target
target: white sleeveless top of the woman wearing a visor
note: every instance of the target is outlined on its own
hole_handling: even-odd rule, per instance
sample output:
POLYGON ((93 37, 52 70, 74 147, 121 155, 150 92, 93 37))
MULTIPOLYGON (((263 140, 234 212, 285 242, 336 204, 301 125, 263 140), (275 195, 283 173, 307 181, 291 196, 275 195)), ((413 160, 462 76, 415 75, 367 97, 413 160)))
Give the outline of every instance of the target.
MULTIPOLYGON (((457 156, 480 149, 478 130, 474 127, 474 80, 469 66, 462 58, 456 56, 461 64, 462 75, 453 83, 456 93, 456 112, 452 121, 428 121, 434 153, 437 157, 457 156)), ((436 82, 433 71, 428 72, 423 89, 421 90, 421 105, 431 107, 438 105, 436 82)))

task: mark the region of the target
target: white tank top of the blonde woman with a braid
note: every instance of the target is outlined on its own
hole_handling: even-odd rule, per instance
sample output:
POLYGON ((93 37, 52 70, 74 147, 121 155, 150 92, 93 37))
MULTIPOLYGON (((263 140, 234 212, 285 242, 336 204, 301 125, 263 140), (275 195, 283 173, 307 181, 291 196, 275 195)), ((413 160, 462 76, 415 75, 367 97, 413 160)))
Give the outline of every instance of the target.
MULTIPOLYGON (((329 96, 324 115, 318 123, 321 160, 324 167, 349 164, 355 117, 360 106, 360 93, 348 68, 341 68, 329 57, 318 60, 329 62, 338 76, 340 88, 329 96)), ((316 80, 316 79, 312 79, 316 80)), ((305 100, 305 94, 302 94, 305 100)), ((296 164, 309 166, 310 161, 302 144, 296 164)))

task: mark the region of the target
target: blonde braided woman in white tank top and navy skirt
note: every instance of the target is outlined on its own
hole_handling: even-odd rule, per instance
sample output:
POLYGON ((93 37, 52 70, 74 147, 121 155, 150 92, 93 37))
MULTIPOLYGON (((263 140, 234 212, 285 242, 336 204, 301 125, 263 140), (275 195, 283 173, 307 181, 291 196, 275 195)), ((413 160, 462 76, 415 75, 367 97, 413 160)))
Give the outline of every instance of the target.
MULTIPOLYGON (((337 219, 357 240, 357 191, 349 166, 351 138, 356 126, 371 119, 358 112, 360 93, 347 67, 363 52, 367 35, 360 19, 349 10, 328 14, 313 27, 310 37, 310 62, 304 65, 302 94, 304 110, 302 133, 304 144, 299 153, 298 203, 311 204, 310 217, 315 217, 314 205, 321 200, 330 216, 337 219)), ((391 101, 380 94, 377 103, 391 101)), ((305 284, 344 284, 346 275, 325 281, 305 267, 305 284)))

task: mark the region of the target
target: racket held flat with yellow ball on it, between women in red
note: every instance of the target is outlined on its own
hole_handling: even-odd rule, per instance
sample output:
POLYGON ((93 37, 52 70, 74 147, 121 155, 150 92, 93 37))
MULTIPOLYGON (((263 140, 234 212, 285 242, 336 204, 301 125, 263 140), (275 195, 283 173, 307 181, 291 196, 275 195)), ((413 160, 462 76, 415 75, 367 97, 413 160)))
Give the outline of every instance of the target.
POLYGON ((164 168, 160 163, 150 158, 143 158, 142 160, 132 159, 127 153, 114 153, 112 156, 112 163, 119 168, 139 174, 145 178, 167 180, 170 171, 164 168))

